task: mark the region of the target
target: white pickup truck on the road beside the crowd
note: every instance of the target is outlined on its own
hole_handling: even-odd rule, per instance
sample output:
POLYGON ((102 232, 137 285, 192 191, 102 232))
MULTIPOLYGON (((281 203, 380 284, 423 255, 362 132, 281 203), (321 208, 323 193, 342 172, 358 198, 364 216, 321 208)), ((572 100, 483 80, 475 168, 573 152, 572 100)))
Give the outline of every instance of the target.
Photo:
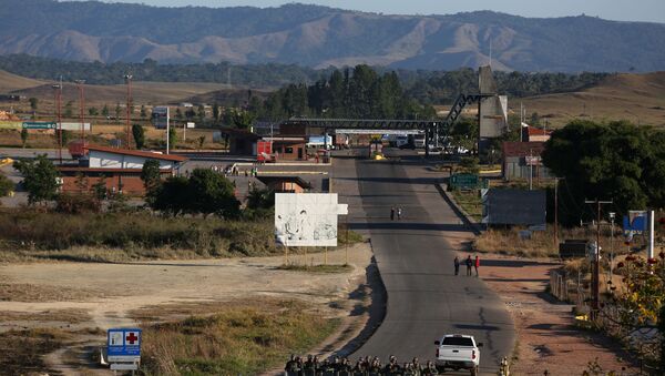
POLYGON ((480 364, 480 350, 482 343, 477 344, 473 336, 463 334, 447 334, 437 345, 436 365, 440 373, 446 368, 460 370, 469 369, 471 376, 478 375, 480 364))

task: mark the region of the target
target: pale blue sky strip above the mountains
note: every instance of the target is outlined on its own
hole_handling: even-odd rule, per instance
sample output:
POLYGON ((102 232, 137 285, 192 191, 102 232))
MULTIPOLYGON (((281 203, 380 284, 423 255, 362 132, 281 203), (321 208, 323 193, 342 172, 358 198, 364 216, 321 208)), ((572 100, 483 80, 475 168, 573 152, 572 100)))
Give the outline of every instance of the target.
MULTIPOLYGON (((252 6, 278 7, 284 0, 120 0, 150 6, 213 8, 252 6)), ((301 0, 332 8, 398 14, 449 14, 473 10, 494 10, 525 17, 598 16, 610 20, 665 23, 665 0, 301 0)))

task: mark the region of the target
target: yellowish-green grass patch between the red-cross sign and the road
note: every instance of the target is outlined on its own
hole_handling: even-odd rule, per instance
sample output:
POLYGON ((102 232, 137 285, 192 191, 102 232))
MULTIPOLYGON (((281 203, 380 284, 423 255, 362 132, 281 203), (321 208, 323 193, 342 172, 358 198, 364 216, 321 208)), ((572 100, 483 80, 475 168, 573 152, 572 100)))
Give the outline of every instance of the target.
POLYGON ((229 304, 212 316, 143 327, 147 375, 258 375, 283 366, 339 325, 300 302, 229 304))

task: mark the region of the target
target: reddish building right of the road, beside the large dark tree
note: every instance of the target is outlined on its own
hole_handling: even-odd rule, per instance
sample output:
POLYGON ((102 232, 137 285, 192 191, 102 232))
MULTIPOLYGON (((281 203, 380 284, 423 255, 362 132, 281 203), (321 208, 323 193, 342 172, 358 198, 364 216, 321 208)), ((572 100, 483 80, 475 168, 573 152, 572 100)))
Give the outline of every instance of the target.
POLYGON ((501 172, 503 180, 551 179, 553 175, 542 165, 544 142, 504 142, 501 172))

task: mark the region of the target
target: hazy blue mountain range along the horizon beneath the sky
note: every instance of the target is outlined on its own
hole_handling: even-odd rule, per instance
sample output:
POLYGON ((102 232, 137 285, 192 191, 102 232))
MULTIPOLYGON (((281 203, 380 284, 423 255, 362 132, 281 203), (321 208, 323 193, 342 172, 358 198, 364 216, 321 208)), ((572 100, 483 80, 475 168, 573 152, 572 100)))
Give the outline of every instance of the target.
POLYGON ((383 16, 304 4, 211 9, 4 0, 0 19, 0 54, 79 61, 454 70, 485 64, 492 50, 495 70, 665 70, 665 24, 584 16, 383 16))

